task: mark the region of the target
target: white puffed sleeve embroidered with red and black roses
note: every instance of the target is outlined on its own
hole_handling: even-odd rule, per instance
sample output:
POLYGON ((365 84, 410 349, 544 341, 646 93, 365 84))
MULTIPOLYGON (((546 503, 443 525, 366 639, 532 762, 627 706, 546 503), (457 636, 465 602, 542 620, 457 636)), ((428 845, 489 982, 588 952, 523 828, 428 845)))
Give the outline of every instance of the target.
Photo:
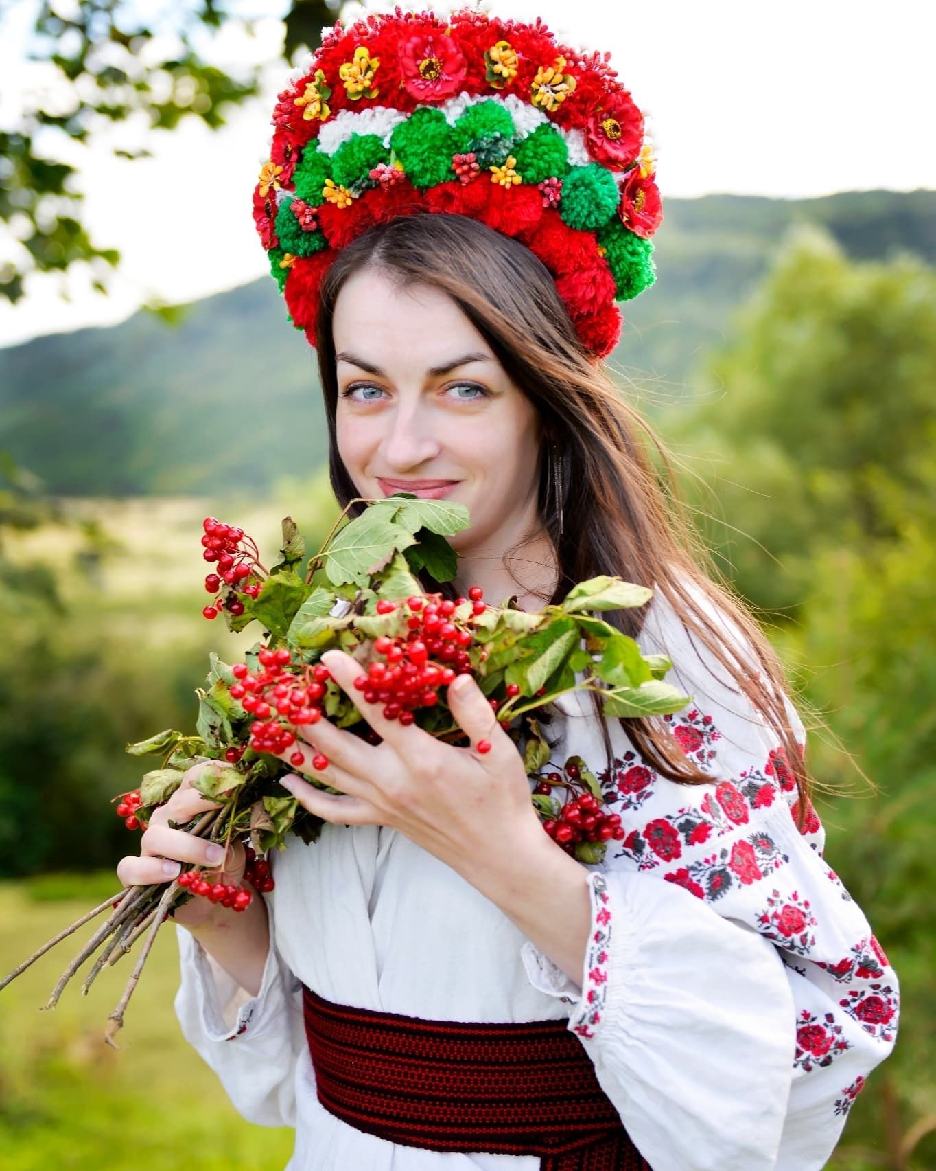
POLYGON ((694 669, 703 656, 679 635, 649 649, 693 697, 667 719, 711 783, 615 756, 601 782, 626 836, 585 874, 581 981, 529 943, 526 971, 570 1002, 569 1028, 654 1171, 818 1171, 894 1048, 897 977, 825 862, 812 806, 797 829, 796 780, 750 701, 713 662, 694 669))

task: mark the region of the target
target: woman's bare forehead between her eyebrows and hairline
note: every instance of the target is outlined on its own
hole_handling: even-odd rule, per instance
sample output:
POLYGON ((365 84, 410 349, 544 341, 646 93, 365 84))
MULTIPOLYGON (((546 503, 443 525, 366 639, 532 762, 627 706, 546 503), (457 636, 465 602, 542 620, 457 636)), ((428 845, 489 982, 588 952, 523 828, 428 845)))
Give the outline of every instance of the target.
POLYGON ((455 352, 494 356, 455 301, 431 285, 402 288, 387 274, 365 269, 342 287, 332 319, 336 351, 353 350, 384 363, 439 365, 455 352))

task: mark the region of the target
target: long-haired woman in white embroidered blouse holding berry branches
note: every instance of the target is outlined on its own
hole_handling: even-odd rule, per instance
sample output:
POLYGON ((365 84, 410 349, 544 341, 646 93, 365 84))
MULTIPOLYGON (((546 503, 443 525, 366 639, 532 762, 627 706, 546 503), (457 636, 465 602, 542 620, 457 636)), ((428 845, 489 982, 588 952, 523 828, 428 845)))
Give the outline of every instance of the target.
MULTIPOLYGON (((373 62, 387 63, 386 36, 359 53, 386 28, 356 28, 357 74, 339 73, 346 102, 349 80, 374 94, 373 62)), ((497 32, 495 44, 522 42, 516 26, 497 32)), ((436 53, 421 63, 442 76, 457 70, 449 46, 418 52, 436 53)), ((562 60, 553 84, 567 76, 562 60)), ((328 53, 317 61, 324 135, 328 53)), ((519 755, 470 678, 448 692, 470 748, 370 708, 379 747, 324 723, 303 730, 304 763, 284 782, 325 820, 321 840, 271 857, 275 891, 247 913, 179 909, 183 1032, 246 1118, 296 1128, 295 1171, 821 1167, 894 1046, 897 979, 823 858, 782 667, 741 603, 697 568, 647 429, 598 361, 600 314, 570 310, 535 237, 495 228, 488 212, 427 206, 431 186, 357 234, 332 221, 328 263, 314 279, 295 266, 287 276, 294 323, 318 348, 339 504, 410 491, 466 505, 449 596, 481 586, 490 602, 534 609, 601 573, 653 587, 646 607, 610 618, 673 662, 668 679, 691 703, 662 720, 614 720, 573 694, 544 713, 550 767, 581 756, 621 817, 624 838, 591 867, 543 833, 519 755), (424 1035, 438 1052, 415 1063, 358 1046, 424 1035), (509 1038, 516 1062, 484 1076, 473 1067, 470 1093, 447 1082, 439 1054, 466 1036, 508 1055, 509 1038), (576 1105, 563 1073, 543 1078, 534 1112, 507 1122, 522 1093, 511 1070, 525 1084, 529 1055, 551 1070, 559 1049, 555 1068, 579 1078, 577 1124, 597 1134, 572 1135, 565 1151, 576 1105), (484 1098, 484 1084, 496 1094, 484 1098)), ((353 660, 325 662, 363 704, 353 660)), ((207 808, 186 783, 153 816, 142 857, 122 861, 122 881, 160 881, 163 858, 216 864, 168 827, 207 808)), ((242 851, 225 867, 236 882, 242 851)))

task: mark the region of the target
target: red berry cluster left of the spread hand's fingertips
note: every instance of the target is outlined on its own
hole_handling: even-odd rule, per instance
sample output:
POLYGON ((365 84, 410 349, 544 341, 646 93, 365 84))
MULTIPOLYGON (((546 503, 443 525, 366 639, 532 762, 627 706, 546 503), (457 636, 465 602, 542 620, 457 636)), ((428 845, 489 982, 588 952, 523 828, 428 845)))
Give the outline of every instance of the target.
MULTIPOLYGON (((252 674, 246 663, 234 664, 232 671, 236 683, 228 690, 246 712, 256 715, 250 724, 250 747, 254 752, 278 754, 296 742, 296 733, 291 727, 284 727, 281 719, 292 726, 317 724, 322 719, 329 669, 324 663, 316 663, 314 667, 303 666, 301 674, 287 671, 291 655, 285 646, 275 651, 264 646, 257 658, 263 667, 257 674, 252 674)), ((234 747, 225 752, 225 759, 233 765, 242 755, 243 748, 234 747)), ((290 760, 301 765, 303 756, 295 753, 290 760)), ((328 768, 328 759, 321 753, 316 760, 319 761, 316 768, 328 768)))

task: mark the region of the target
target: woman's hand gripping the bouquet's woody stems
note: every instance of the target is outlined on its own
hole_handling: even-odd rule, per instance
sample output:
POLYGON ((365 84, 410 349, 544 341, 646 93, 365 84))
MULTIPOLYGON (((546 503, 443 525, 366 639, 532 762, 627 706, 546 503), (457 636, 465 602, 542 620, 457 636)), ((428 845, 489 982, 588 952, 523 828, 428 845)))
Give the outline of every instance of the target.
MULTIPOLYGON (((166 801, 153 810, 150 823, 139 840, 139 856, 128 855, 117 863, 117 877, 124 886, 143 886, 151 883, 172 882, 181 870, 180 862, 194 862, 211 867, 218 871, 218 882, 230 882, 240 885, 247 856, 242 845, 233 843, 229 856, 223 860, 223 847, 204 841, 184 829, 170 829, 170 819, 177 826, 187 824, 199 814, 220 808, 220 802, 209 801, 198 789, 192 788, 193 778, 211 761, 193 765, 183 776, 181 785, 166 801), (214 851, 214 852, 213 852, 214 851)), ((184 927, 200 927, 209 919, 218 918, 218 912, 228 912, 209 903, 207 898, 192 898, 173 912, 173 922, 184 927)))

